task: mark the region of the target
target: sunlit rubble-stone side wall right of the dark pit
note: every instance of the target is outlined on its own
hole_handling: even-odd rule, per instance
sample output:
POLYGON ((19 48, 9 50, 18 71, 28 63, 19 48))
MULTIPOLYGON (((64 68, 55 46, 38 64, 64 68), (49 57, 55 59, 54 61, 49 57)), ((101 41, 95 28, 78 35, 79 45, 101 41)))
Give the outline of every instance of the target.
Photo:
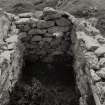
MULTIPOLYGON (((87 97, 86 93, 89 92, 89 88, 91 92, 93 93, 95 103, 96 105, 104 105, 105 104, 105 90, 104 90, 104 54, 105 54, 105 38, 103 35, 101 35, 100 31, 95 28, 95 24, 97 23, 96 19, 89 19, 89 20, 82 20, 78 24, 78 27, 76 29, 76 36, 79 41, 79 47, 82 52, 82 56, 80 58, 84 59, 85 66, 84 70, 80 70, 79 72, 79 79, 80 84, 79 89, 82 90, 82 99, 81 100, 89 100, 89 97, 87 97), (91 23, 90 23, 91 21, 91 23), (85 72, 85 73, 84 73, 85 72), (82 75, 82 76, 81 76, 82 75), (84 86, 86 84, 86 78, 88 86, 84 86), (85 82, 85 83, 84 83, 85 82), (87 92, 86 92, 87 91, 87 92), (85 94, 84 94, 85 93, 85 94)), ((80 55, 80 54, 78 54, 80 55)), ((78 55, 76 56, 77 61, 79 61, 80 58, 78 58, 78 55)), ((77 62, 78 63, 78 62, 77 62)), ((78 64, 80 67, 81 63, 78 64)), ((78 67, 76 64, 75 66, 78 67)), ((91 93, 90 92, 90 93, 91 93)), ((83 101, 82 101, 83 102, 83 101)), ((88 103, 88 102, 87 102, 88 103)), ((82 104, 86 104, 83 102, 82 104)), ((86 104, 87 105, 87 104, 86 104)), ((92 104, 93 105, 93 104, 92 104)))

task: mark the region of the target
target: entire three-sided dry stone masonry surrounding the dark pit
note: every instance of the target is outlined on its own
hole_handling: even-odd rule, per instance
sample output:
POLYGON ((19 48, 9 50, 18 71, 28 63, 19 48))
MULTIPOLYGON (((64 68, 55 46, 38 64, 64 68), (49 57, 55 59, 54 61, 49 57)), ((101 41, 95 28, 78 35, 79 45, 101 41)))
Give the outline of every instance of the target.
POLYGON ((74 56, 80 105, 105 104, 105 38, 94 26, 97 19, 77 19, 49 7, 38 18, 33 13, 3 14, 10 23, 7 31, 0 30, 0 36, 7 32, 0 44, 0 105, 8 101, 23 59, 52 63, 62 54, 74 56))

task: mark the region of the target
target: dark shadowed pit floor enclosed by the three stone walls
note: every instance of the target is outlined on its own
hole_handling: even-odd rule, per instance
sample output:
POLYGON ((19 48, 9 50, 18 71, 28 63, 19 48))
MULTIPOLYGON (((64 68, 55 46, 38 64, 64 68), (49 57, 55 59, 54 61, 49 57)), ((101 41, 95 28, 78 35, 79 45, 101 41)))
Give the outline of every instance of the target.
POLYGON ((24 62, 9 105, 79 105, 72 56, 54 56, 52 63, 24 62))

